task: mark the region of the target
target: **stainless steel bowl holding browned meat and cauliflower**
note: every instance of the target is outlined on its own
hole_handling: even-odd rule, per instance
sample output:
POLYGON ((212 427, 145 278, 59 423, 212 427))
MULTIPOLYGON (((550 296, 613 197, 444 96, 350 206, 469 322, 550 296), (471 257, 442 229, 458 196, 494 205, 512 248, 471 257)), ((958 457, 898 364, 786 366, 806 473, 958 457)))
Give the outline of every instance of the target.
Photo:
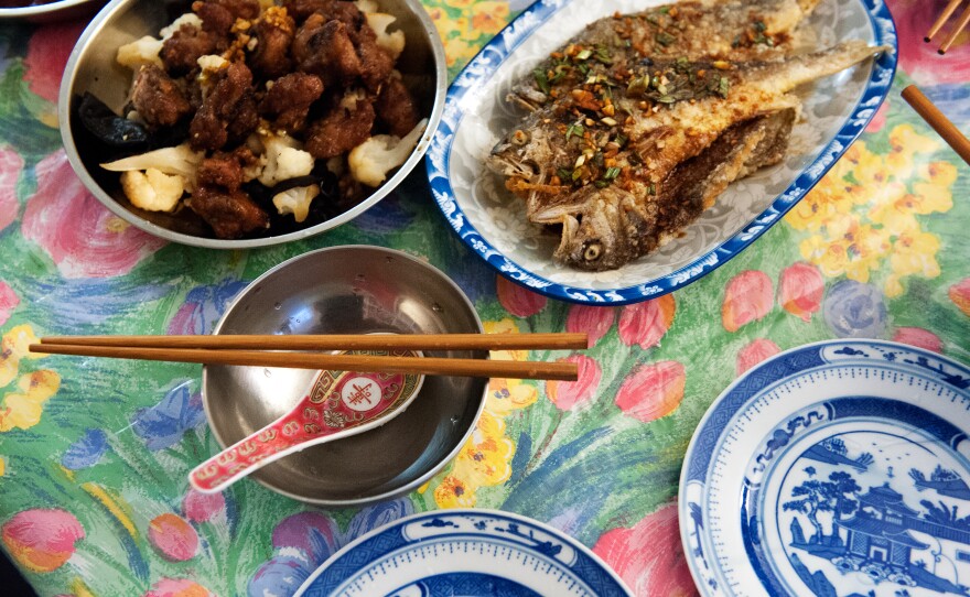
MULTIPOLYGON (((191 0, 184 2, 185 11, 188 11, 191 0)), ((78 39, 67 61, 58 97, 61 137, 71 165, 88 191, 116 215, 152 235, 183 245, 216 249, 265 247, 311 237, 352 220, 387 196, 424 155, 441 120, 448 84, 444 47, 420 0, 378 0, 378 4, 381 11, 397 17, 391 30, 399 28, 405 33, 405 51, 398 58, 397 68, 418 100, 423 117, 428 118, 428 127, 403 165, 353 208, 289 234, 224 240, 207 236, 207 227, 198 222, 169 214, 143 211, 128 202, 121 192, 117 173, 100 169, 91 148, 77 142, 84 137, 73 108, 82 94, 90 91, 116 113, 120 113, 128 98, 131 72, 115 61, 117 48, 144 35, 158 36, 159 30, 170 24, 171 4, 158 0, 112 0, 98 12, 78 39)))

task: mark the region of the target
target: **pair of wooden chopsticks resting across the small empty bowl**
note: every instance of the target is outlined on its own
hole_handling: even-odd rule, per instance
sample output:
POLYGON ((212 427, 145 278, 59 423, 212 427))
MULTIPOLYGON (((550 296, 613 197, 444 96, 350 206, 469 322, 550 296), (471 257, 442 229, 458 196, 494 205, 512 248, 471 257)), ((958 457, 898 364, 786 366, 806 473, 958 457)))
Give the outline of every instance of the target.
POLYGON ((50 336, 31 352, 118 359, 575 381, 572 362, 330 355, 302 350, 585 349, 586 334, 50 336))

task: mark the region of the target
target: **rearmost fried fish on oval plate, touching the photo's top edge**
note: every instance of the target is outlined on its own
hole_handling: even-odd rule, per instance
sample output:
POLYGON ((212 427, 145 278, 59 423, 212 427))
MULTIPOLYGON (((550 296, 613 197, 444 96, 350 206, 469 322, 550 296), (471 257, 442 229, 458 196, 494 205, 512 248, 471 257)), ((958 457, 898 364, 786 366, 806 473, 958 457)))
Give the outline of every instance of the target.
POLYGON ((516 84, 508 100, 529 110, 578 84, 642 58, 766 59, 819 0, 687 0, 594 21, 516 84))

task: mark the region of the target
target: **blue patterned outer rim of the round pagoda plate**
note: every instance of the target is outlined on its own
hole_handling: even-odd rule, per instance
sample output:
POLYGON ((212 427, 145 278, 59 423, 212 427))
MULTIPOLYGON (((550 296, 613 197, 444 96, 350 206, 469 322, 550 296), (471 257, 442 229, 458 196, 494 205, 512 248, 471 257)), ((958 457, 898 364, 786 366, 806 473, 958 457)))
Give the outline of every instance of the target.
MULTIPOLYGON (((687 503, 688 486, 691 484, 708 485, 711 463, 715 458, 722 435, 732 426, 739 413, 742 413, 752 401, 764 395, 772 388, 801 377, 810 371, 819 371, 836 365, 867 365, 873 368, 905 370, 919 372, 935 381, 946 383, 966 394, 970 400, 970 366, 956 361, 947 356, 933 352, 907 344, 879 339, 829 339, 793 347, 775 355, 739 376, 708 408, 698 423, 688 445, 680 473, 678 489, 678 514, 680 519, 680 538, 686 552, 690 552, 689 535, 693 532, 689 522, 691 512, 687 503), (871 352, 871 354, 870 354, 871 352), (901 363, 896 356, 913 355, 915 361, 901 363), (882 358, 875 360, 875 356, 882 358), (832 357, 836 357, 833 359, 832 357), (768 375, 765 375, 765 373, 768 375), (761 378, 752 387, 740 387, 750 379, 761 378), (700 443, 707 444, 702 447, 700 443)), ((806 404, 791 405, 791 412, 804 409, 806 404)), ((970 430, 967 430, 970 433, 970 430)), ((741 455, 740 457, 744 457, 741 455)), ((741 498, 739 498, 741 499, 741 498)), ((710 595, 703 582, 703 574, 698 569, 696 557, 688 553, 688 565, 698 589, 710 595)), ((704 563, 710 562, 704 558, 704 563)), ((716 565, 716 564, 715 564, 716 565)))

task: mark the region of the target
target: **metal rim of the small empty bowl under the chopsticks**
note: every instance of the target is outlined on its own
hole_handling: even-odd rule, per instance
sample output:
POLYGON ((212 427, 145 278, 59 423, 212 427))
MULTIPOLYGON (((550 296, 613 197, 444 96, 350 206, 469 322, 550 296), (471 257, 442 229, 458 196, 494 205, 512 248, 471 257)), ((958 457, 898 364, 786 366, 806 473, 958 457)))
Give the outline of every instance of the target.
MULTIPOLYGON (((313 259, 313 258, 317 257, 320 253, 325 253, 325 252, 335 251, 335 250, 347 250, 347 249, 355 249, 355 250, 356 249, 366 249, 366 250, 373 250, 376 252, 388 253, 395 258, 408 259, 410 261, 418 263, 421 267, 424 267, 429 270, 432 270, 433 273, 435 273, 438 276, 441 278, 442 283, 450 284, 452 286, 452 289, 456 291, 457 296, 460 296, 462 298, 462 301, 464 301, 465 306, 467 306, 470 313, 474 317, 474 321, 478 327, 478 333, 479 334, 485 333, 485 328, 482 325, 482 318, 478 316, 478 311, 472 304, 472 301, 468 298, 468 296, 465 294, 465 292, 461 289, 461 286, 459 286, 454 282, 454 280, 452 280, 451 278, 445 275, 444 272, 442 272, 441 270, 439 270, 434 265, 431 265, 430 263, 421 261, 420 259, 416 258, 414 256, 412 256, 410 253, 406 253, 403 251, 399 251, 397 249, 390 249, 387 247, 376 247, 373 245, 338 245, 335 247, 325 247, 323 249, 316 249, 313 251, 308 251, 305 253, 301 253, 301 254, 291 257, 290 259, 283 261, 282 263, 279 263, 278 265, 274 265, 274 267, 270 268, 269 270, 267 270, 265 273, 259 275, 252 282, 247 284, 246 287, 242 289, 239 292, 239 294, 237 294, 233 298, 233 301, 226 307, 226 311, 223 313, 222 317, 219 317, 218 323, 216 323, 216 326, 213 329, 213 334, 216 335, 219 333, 219 330, 223 327, 223 324, 225 323, 226 318, 229 316, 229 313, 231 313, 231 311, 234 308, 236 308, 236 305, 247 294, 249 294, 254 289, 256 289, 259 283, 263 282, 267 278, 273 275, 274 273, 277 273, 277 272, 283 270, 284 268, 288 268, 288 267, 292 265, 293 263, 301 261, 303 259, 313 259)), ((488 358, 491 358, 491 356, 486 356, 485 358, 488 359, 488 358)), ((213 436, 216 438, 216 442, 218 442, 220 448, 225 449, 228 445, 227 442, 219 434, 219 430, 217 430, 216 426, 212 424, 213 417, 209 412, 208 393, 206 392, 207 380, 208 380, 208 367, 204 366, 202 368, 202 406, 205 411, 206 423, 208 424, 209 431, 212 432, 213 436)), ((467 431, 465 431, 464 435, 462 435, 461 439, 455 444, 455 447, 450 453, 448 453, 446 456, 441 458, 441 460, 438 464, 431 466, 420 477, 418 477, 413 481, 406 484, 406 485, 403 485, 397 489, 394 489, 391 491, 385 491, 384 493, 379 493, 379 495, 370 496, 370 497, 366 497, 366 498, 355 498, 355 499, 348 499, 348 500, 319 499, 319 498, 308 498, 306 496, 292 493, 290 491, 287 491, 285 489, 282 489, 280 487, 277 487, 274 485, 271 485, 271 484, 260 479, 258 476, 250 475, 248 478, 250 480, 256 481, 259 485, 266 487, 267 489, 276 491, 277 493, 280 493, 280 495, 285 496, 288 498, 291 498, 291 499, 294 499, 298 501, 302 501, 305 503, 314 503, 317 506, 326 506, 326 507, 345 508, 345 507, 355 507, 355 506, 366 506, 366 504, 375 503, 375 502, 382 501, 382 500, 394 499, 394 498, 403 496, 406 493, 410 493, 414 489, 417 489, 417 488, 421 487, 423 484, 428 482, 432 477, 434 477, 434 475, 436 475, 442 468, 444 468, 445 465, 448 465, 448 463, 452 462, 459 455, 459 452, 461 452, 462 447, 464 447, 465 443, 467 443, 468 438, 475 432, 478 420, 482 417, 482 412, 485 410, 485 402, 486 402, 487 398, 488 398, 488 383, 485 383, 485 389, 483 390, 482 397, 478 400, 478 409, 475 411, 475 416, 472 417, 472 421, 471 421, 471 424, 468 425, 467 431)))

